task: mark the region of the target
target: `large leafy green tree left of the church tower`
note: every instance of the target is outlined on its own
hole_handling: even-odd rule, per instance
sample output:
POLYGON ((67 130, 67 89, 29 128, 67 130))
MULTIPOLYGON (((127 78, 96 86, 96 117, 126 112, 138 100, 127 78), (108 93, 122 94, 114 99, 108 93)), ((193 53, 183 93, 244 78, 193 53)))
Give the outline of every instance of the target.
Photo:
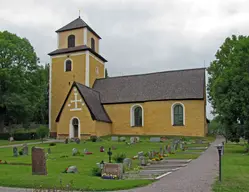
POLYGON ((40 95, 38 61, 26 38, 0 32, 0 132, 5 122, 25 123, 33 117, 40 95))

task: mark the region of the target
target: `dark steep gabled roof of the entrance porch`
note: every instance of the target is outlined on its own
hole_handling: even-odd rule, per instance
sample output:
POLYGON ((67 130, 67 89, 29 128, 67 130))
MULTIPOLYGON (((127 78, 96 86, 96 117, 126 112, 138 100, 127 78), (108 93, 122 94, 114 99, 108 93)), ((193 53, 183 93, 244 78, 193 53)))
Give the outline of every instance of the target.
POLYGON ((93 120, 97 121, 103 121, 107 123, 111 123, 112 121, 110 120, 108 114, 106 113, 104 107, 102 106, 100 102, 100 95, 97 91, 86 87, 85 85, 82 85, 80 83, 74 82, 61 109, 60 112, 56 118, 56 122, 59 122, 61 113, 63 111, 64 106, 66 105, 66 102, 68 100, 68 97, 73 89, 73 87, 77 87, 81 97, 83 98, 84 102, 86 103, 86 106, 91 113, 91 117, 93 120))

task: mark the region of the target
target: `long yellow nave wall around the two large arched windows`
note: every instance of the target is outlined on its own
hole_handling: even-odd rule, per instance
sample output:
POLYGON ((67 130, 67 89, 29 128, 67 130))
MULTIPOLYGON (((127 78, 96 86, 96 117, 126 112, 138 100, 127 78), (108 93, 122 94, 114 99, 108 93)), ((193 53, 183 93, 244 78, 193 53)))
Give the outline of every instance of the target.
POLYGON ((138 104, 144 109, 143 127, 130 126, 130 108, 134 104, 104 105, 113 122, 113 135, 205 135, 204 100, 154 101, 138 104), (171 124, 171 106, 176 102, 185 106, 184 126, 171 124))

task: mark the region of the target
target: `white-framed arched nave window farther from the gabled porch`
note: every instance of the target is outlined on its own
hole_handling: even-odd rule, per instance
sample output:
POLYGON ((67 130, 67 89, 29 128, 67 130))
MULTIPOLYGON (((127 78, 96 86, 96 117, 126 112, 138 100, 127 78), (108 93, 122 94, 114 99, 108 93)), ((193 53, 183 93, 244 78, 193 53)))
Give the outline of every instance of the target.
POLYGON ((172 117, 173 125, 183 126, 184 125, 184 105, 181 103, 176 103, 172 105, 172 117))

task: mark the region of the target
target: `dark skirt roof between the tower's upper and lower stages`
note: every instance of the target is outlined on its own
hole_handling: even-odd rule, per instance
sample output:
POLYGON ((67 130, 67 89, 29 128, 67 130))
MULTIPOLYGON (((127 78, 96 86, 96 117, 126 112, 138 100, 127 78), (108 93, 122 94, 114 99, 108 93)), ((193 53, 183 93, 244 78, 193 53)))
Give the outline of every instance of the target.
POLYGON ((60 54, 65 54, 65 53, 74 53, 78 51, 90 51, 92 54, 94 54, 96 57, 98 57, 102 61, 107 62, 107 60, 104 57, 102 57, 100 54, 96 53, 90 47, 86 45, 80 45, 80 46, 64 48, 64 49, 56 49, 55 51, 52 51, 48 55, 53 56, 53 55, 60 55, 60 54))

